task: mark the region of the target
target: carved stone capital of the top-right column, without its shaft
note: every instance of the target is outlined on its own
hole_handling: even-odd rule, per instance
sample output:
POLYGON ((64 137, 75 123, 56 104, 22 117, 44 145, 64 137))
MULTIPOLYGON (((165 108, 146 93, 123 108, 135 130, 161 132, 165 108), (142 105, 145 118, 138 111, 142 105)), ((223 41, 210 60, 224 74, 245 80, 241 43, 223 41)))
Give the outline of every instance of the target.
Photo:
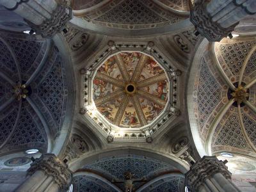
POLYGON ((194 7, 190 11, 190 21, 194 24, 195 29, 209 42, 220 42, 224 37, 227 37, 237 23, 229 28, 222 28, 220 24, 212 21, 212 17, 206 11, 206 5, 209 0, 195 1, 194 7))

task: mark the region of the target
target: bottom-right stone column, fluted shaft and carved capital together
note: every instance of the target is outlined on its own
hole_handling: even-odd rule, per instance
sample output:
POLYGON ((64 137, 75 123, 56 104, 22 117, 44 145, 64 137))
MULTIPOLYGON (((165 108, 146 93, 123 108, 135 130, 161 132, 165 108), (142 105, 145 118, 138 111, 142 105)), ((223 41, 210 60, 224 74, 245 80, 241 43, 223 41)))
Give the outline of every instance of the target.
POLYGON ((231 173, 216 156, 204 156, 190 167, 185 175, 185 184, 191 191, 238 192, 231 182, 231 173))

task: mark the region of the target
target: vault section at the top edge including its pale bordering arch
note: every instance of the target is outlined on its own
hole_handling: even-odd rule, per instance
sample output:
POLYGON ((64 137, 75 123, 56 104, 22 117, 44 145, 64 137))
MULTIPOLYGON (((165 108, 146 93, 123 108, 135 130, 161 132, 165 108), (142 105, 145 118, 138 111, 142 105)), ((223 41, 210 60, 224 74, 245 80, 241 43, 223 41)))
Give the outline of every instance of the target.
POLYGON ((143 35, 175 30, 188 19, 189 1, 73 1, 74 24, 108 35, 143 35), (178 25, 179 26, 179 25, 178 25), (116 31, 117 30, 117 31, 116 31), (140 31, 140 32, 138 32, 140 31))

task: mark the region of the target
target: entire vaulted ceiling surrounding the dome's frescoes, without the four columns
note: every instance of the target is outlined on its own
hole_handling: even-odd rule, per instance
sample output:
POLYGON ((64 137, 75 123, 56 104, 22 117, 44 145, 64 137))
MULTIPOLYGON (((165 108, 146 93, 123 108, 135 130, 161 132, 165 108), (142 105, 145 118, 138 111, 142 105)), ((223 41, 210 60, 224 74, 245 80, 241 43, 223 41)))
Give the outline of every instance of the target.
POLYGON ((125 172, 147 179, 136 183, 138 191, 182 191, 188 157, 221 159, 221 152, 234 154, 230 163, 243 161, 232 172, 255 173, 256 52, 255 38, 247 36, 255 35, 254 17, 237 26, 241 37, 209 43, 195 35, 186 0, 70 1, 70 6, 74 18, 68 32, 51 40, 20 33, 30 28, 0 7, 1 167, 17 157, 28 168, 24 151, 29 148, 53 152, 76 172, 75 191, 120 191, 124 185, 112 181, 124 179, 125 172), (93 78, 103 81, 105 74, 122 84, 124 79, 100 66, 131 52, 158 63, 170 90, 156 124, 120 131, 102 124, 106 121, 95 116, 88 101, 93 78))

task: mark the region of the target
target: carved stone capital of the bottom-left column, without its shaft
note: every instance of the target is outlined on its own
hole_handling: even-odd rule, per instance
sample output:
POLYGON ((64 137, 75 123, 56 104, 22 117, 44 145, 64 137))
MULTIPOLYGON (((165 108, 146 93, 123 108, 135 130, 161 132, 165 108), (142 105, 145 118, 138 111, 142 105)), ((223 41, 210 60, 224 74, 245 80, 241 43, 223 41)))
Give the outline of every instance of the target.
POLYGON ((67 164, 54 154, 42 154, 41 157, 35 159, 28 169, 28 175, 33 175, 38 170, 43 171, 45 175, 51 175, 60 189, 66 190, 72 183, 72 172, 67 164))

